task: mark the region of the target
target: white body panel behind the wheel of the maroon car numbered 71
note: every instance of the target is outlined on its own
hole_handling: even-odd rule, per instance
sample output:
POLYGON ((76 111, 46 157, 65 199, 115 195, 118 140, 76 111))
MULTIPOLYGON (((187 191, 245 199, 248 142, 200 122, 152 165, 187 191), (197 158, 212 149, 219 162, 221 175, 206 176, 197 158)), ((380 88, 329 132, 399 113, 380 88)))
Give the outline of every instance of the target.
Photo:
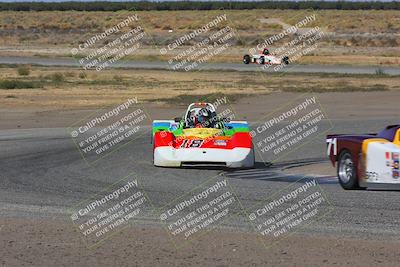
POLYGON ((366 182, 400 184, 399 155, 400 148, 393 143, 369 143, 365 162, 366 182))

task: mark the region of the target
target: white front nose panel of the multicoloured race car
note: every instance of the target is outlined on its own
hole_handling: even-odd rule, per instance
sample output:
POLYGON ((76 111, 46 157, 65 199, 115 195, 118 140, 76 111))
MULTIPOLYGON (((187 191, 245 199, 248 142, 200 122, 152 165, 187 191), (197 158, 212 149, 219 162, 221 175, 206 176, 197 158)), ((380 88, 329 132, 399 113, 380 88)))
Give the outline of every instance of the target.
POLYGON ((254 152, 250 148, 181 148, 170 146, 157 147, 154 150, 154 165, 179 167, 182 162, 225 162, 230 168, 254 166, 254 152))

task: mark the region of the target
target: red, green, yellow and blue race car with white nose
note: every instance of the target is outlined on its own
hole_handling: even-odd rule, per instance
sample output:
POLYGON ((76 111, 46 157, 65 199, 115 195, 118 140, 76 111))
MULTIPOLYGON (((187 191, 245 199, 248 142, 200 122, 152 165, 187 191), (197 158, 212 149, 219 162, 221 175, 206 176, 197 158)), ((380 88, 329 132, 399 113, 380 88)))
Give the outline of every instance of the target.
POLYGON ((254 166, 254 150, 245 121, 218 116, 210 103, 192 103, 175 120, 153 121, 155 166, 254 166))

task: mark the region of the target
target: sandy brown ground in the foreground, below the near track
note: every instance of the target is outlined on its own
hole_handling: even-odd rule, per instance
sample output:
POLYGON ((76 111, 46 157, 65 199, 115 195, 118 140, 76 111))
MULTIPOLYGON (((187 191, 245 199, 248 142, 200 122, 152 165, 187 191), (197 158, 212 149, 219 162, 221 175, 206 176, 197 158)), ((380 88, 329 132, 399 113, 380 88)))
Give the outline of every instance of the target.
POLYGON ((150 227, 128 227, 92 249, 62 221, 3 218, 0 233, 4 266, 398 266, 400 258, 398 243, 294 235, 266 248, 233 230, 211 231, 179 250, 150 227))

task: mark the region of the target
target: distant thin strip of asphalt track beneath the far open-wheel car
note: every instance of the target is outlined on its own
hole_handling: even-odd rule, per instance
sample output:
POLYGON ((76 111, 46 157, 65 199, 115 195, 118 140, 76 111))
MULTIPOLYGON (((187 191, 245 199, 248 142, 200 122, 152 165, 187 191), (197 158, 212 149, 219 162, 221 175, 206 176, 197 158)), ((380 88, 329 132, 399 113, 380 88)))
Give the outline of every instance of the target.
MULTIPOLYGON (((0 57, 0 64, 34 64, 42 66, 79 66, 73 58, 41 58, 41 57, 0 57)), ((119 61, 112 65, 115 68, 128 69, 171 69, 167 62, 157 61, 119 61)), ((348 66, 348 65, 288 65, 282 71, 289 73, 341 73, 341 74, 375 74, 381 69, 389 75, 400 75, 400 67, 380 66, 348 66)), ((234 70, 273 72, 273 68, 262 69, 260 65, 242 63, 206 63, 201 70, 234 70)))

